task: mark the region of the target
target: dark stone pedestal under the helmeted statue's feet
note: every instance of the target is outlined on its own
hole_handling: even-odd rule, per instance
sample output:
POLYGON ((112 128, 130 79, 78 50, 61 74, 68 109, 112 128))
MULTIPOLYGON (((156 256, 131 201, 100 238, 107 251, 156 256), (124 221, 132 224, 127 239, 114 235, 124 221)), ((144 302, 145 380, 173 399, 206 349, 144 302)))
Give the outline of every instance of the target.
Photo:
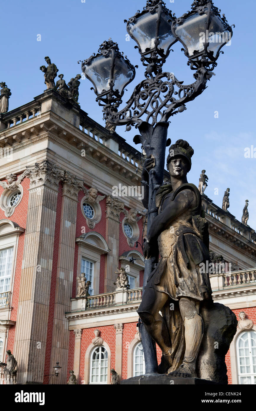
POLYGON ((221 385, 199 378, 171 378, 166 374, 139 375, 122 380, 121 385, 221 385))

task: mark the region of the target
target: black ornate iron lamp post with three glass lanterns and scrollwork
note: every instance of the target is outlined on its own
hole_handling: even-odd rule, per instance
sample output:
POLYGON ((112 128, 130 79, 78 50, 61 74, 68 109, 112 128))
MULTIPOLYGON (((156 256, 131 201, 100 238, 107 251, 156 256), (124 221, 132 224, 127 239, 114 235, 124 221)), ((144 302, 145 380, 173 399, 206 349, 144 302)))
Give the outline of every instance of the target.
MULTIPOLYGON (((166 145, 171 143, 170 139, 166 141, 168 120, 186 110, 185 104, 205 90, 217 58, 223 53, 221 48, 231 40, 233 31, 212 0, 195 0, 191 11, 180 18, 162 0, 148 0, 143 10, 125 23, 146 69, 145 79, 135 87, 123 109, 118 111, 124 88, 134 79, 137 66, 120 53, 118 44, 109 39, 101 44, 97 54, 81 63, 83 73, 94 85, 96 101, 103 106, 104 119, 114 126, 126 125, 127 131, 132 126, 138 128, 140 135, 134 137, 134 143, 141 143, 144 160, 154 158, 148 184, 149 229, 158 214, 155 193, 163 182, 166 145), (195 81, 189 85, 183 85, 173 73, 162 71, 171 47, 178 41, 184 47, 181 50, 188 58, 187 64, 195 71, 195 81)), ((156 250, 155 256, 145 260, 143 290, 157 262, 156 250)), ((146 373, 157 372, 155 343, 143 324, 140 332, 146 373)))

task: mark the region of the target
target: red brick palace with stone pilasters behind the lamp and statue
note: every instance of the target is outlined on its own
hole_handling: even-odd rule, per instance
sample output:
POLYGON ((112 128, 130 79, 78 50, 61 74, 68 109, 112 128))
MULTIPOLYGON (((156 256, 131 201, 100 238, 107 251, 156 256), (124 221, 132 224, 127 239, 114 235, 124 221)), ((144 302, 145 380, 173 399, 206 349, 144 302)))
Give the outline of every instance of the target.
MULTIPOLYGON (((11 350, 18 384, 48 384, 56 362, 50 384, 145 372, 140 180, 137 150, 52 89, 0 114, 0 362, 11 350)), ((256 384, 256 233, 206 195, 203 208, 213 298, 239 320, 228 381, 256 384)))

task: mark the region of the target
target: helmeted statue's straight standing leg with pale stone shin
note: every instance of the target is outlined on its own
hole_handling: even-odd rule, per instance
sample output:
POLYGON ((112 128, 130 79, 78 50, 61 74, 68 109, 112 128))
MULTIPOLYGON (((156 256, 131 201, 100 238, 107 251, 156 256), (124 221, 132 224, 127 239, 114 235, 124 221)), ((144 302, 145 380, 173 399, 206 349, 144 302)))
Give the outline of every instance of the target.
POLYGON ((186 349, 182 364, 169 375, 173 377, 197 377, 196 360, 204 332, 203 319, 199 315, 199 301, 182 297, 179 306, 185 328, 186 349))

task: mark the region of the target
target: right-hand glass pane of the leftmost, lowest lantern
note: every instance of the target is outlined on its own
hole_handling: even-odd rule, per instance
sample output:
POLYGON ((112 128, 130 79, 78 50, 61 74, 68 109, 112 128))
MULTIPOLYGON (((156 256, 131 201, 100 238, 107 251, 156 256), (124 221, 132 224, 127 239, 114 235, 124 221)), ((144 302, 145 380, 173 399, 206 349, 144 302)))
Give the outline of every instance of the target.
POLYGON ((123 58, 116 57, 113 72, 113 90, 122 95, 125 86, 134 79, 134 71, 129 67, 123 58))

